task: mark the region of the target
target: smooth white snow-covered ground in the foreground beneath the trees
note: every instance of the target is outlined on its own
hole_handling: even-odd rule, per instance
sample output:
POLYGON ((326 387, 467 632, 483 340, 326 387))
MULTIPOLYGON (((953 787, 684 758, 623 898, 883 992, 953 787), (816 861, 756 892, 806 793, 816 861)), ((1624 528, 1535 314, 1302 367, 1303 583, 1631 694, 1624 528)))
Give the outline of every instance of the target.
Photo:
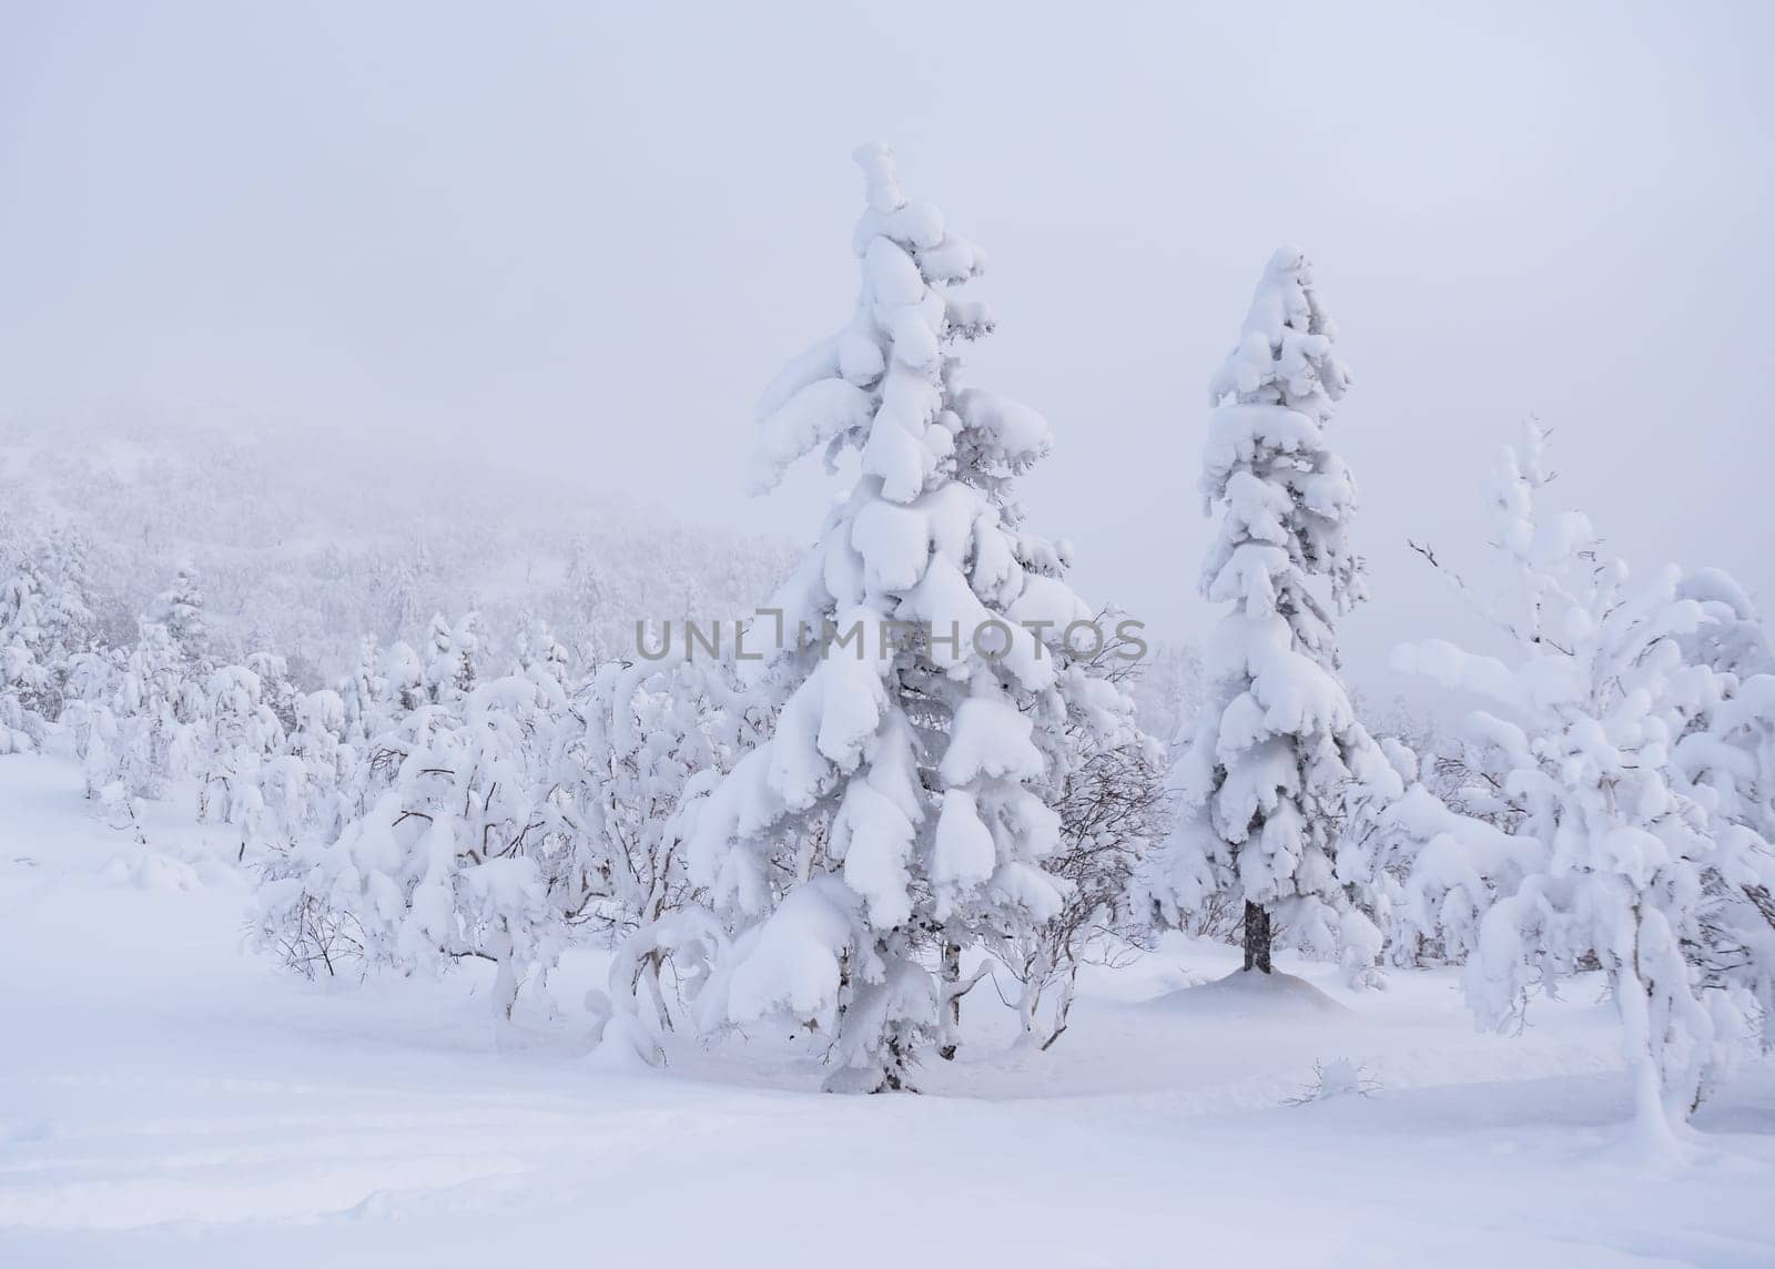
MULTIPOLYGON (((9 1269, 1775 1264, 1775 1067, 1647 1164, 1587 989, 1496 1038, 1445 974, 1354 996, 1305 967, 1328 1005, 1177 944, 1093 978, 1047 1054, 996 1056, 982 989, 928 1095, 825 1097, 783 1036, 612 1072, 570 1033, 499 1052, 469 973, 304 983, 241 951, 220 836, 144 829, 66 761, 0 758, 9 1269), (1289 1104, 1340 1058, 1379 1088, 1289 1104)), ((595 978, 566 966, 563 999, 595 978)))

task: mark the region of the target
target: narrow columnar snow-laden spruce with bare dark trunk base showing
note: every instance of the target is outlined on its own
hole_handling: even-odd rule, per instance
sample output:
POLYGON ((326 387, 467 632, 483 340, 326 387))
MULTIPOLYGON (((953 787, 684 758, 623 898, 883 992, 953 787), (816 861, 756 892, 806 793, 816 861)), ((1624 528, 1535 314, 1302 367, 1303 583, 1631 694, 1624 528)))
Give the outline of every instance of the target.
POLYGON ((1280 926, 1363 976, 1381 939, 1338 884, 1333 843, 1347 784, 1390 768, 1338 678, 1333 619, 1361 598, 1361 559, 1356 486, 1324 431, 1349 385, 1306 256, 1283 247, 1209 389, 1202 490, 1221 524, 1202 595, 1230 611, 1207 648, 1177 822, 1150 884, 1175 925, 1241 903, 1246 969, 1269 973, 1280 926))

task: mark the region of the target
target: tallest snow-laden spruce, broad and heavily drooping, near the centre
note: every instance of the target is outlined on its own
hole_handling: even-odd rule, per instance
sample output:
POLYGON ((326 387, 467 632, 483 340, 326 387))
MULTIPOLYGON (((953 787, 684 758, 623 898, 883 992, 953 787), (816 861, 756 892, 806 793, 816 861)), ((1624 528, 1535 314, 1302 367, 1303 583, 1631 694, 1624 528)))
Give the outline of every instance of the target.
POLYGON ((948 1013, 934 962, 953 983, 955 950, 1060 910, 1040 742, 1129 706, 1063 651, 1092 612, 1010 499, 1045 421, 958 380, 955 341, 992 327, 957 293, 983 257, 900 192, 886 147, 857 162, 857 311, 767 390, 756 485, 816 449, 861 474, 776 598, 779 646, 770 621, 749 632, 774 722, 699 808, 690 866, 738 930, 705 1022, 793 1017, 829 1036, 829 1088, 880 1092, 948 1013))

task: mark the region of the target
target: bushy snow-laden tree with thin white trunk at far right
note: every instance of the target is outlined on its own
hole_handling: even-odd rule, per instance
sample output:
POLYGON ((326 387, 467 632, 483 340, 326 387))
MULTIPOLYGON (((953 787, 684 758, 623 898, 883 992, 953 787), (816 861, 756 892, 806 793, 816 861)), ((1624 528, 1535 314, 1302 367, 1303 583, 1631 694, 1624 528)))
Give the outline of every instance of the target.
POLYGON ((1548 479, 1530 424, 1491 488, 1512 591, 1486 611, 1514 657, 1425 642, 1399 664, 1493 703, 1470 719, 1471 761, 1534 847, 1514 861, 1519 877, 1487 879, 1496 898, 1466 971, 1475 1012, 1511 1024, 1534 990, 1601 967, 1637 1120, 1668 1147, 1768 1006, 1775 942, 1755 896, 1770 893, 1775 854, 1722 815, 1709 763, 1676 760, 1732 687, 1684 657, 1716 616, 1683 595, 1676 568, 1629 587, 1585 516, 1541 515, 1548 479))

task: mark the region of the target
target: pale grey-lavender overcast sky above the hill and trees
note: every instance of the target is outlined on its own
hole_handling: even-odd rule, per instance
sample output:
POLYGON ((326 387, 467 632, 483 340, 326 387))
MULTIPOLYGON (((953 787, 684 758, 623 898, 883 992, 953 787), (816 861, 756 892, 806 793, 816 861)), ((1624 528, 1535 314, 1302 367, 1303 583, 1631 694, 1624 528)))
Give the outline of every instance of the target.
POLYGON ((1358 676, 1457 628, 1404 540, 1479 561, 1528 412, 1635 566, 1775 607, 1771 16, 0 0, 0 412, 375 430, 806 536, 816 465, 744 497, 753 401, 850 312, 882 138, 992 254, 969 373, 1053 421, 1026 504, 1090 600, 1203 628, 1205 382, 1299 241, 1358 676))

